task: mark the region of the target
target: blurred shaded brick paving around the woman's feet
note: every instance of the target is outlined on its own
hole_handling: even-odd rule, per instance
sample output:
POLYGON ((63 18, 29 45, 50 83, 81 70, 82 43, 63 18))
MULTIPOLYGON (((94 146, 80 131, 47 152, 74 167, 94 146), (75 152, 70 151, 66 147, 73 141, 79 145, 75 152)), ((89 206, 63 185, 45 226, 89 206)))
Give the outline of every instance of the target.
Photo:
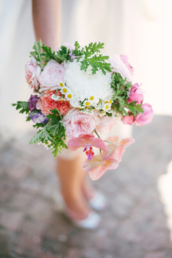
MULTIPOLYGON (((93 182, 107 197, 97 231, 79 230, 54 207, 55 162, 30 136, 1 140, 0 257, 171 258, 167 217, 157 187, 172 157, 172 117, 134 126, 136 140, 119 168, 93 182)), ((32 132, 33 134, 33 132, 32 132)))

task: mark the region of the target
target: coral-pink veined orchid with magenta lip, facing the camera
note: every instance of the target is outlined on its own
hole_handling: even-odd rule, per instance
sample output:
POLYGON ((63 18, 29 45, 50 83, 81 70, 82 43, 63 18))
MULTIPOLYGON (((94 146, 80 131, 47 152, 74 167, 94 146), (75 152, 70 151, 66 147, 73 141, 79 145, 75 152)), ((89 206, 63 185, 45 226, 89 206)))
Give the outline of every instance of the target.
POLYGON ((69 150, 73 151, 80 147, 85 147, 83 151, 86 151, 88 160, 91 160, 94 155, 92 147, 99 148, 103 151, 108 149, 105 142, 100 138, 96 138, 93 134, 80 134, 79 137, 70 139, 67 146, 69 150))

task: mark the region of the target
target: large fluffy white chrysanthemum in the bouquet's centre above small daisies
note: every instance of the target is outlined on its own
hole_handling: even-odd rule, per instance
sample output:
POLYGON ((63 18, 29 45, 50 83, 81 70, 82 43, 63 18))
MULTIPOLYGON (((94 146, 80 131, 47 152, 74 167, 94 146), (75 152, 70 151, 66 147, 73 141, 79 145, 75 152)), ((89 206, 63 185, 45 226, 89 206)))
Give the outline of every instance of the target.
MULTIPOLYGON (((81 71, 81 63, 74 60, 68 61, 64 64, 66 69, 64 75, 64 83, 66 86, 60 90, 62 94, 66 95, 72 92, 74 94, 73 101, 70 104, 78 107, 81 102, 89 102, 91 106, 97 106, 99 99, 106 100, 112 98, 112 88, 110 83, 112 81, 111 74, 104 75, 100 70, 92 74, 92 67, 89 66, 87 71, 81 71), (64 90, 66 89, 66 90, 64 90), (66 91, 66 92, 64 92, 66 91)), ((87 104, 86 104, 87 106, 87 104)))

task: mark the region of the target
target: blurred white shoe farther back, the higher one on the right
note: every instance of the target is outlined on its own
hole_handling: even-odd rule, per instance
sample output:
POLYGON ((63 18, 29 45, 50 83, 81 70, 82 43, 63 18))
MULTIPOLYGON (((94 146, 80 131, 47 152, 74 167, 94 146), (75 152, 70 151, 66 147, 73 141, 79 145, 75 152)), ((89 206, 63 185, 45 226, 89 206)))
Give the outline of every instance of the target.
POLYGON ((96 192, 93 199, 89 200, 89 205, 96 211, 101 211, 106 208, 106 198, 101 192, 96 192))

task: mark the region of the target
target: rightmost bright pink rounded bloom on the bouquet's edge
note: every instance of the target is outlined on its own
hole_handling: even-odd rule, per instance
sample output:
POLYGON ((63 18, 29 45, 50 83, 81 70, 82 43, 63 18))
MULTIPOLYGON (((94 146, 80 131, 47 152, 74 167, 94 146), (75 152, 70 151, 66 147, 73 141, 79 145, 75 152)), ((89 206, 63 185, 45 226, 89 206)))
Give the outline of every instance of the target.
POLYGON ((142 108, 144 110, 144 113, 143 114, 139 114, 135 117, 135 124, 137 126, 141 126, 141 125, 145 125, 145 124, 148 124, 152 121, 153 119, 153 109, 152 107, 150 106, 150 104, 148 103, 144 103, 142 105, 142 108))

